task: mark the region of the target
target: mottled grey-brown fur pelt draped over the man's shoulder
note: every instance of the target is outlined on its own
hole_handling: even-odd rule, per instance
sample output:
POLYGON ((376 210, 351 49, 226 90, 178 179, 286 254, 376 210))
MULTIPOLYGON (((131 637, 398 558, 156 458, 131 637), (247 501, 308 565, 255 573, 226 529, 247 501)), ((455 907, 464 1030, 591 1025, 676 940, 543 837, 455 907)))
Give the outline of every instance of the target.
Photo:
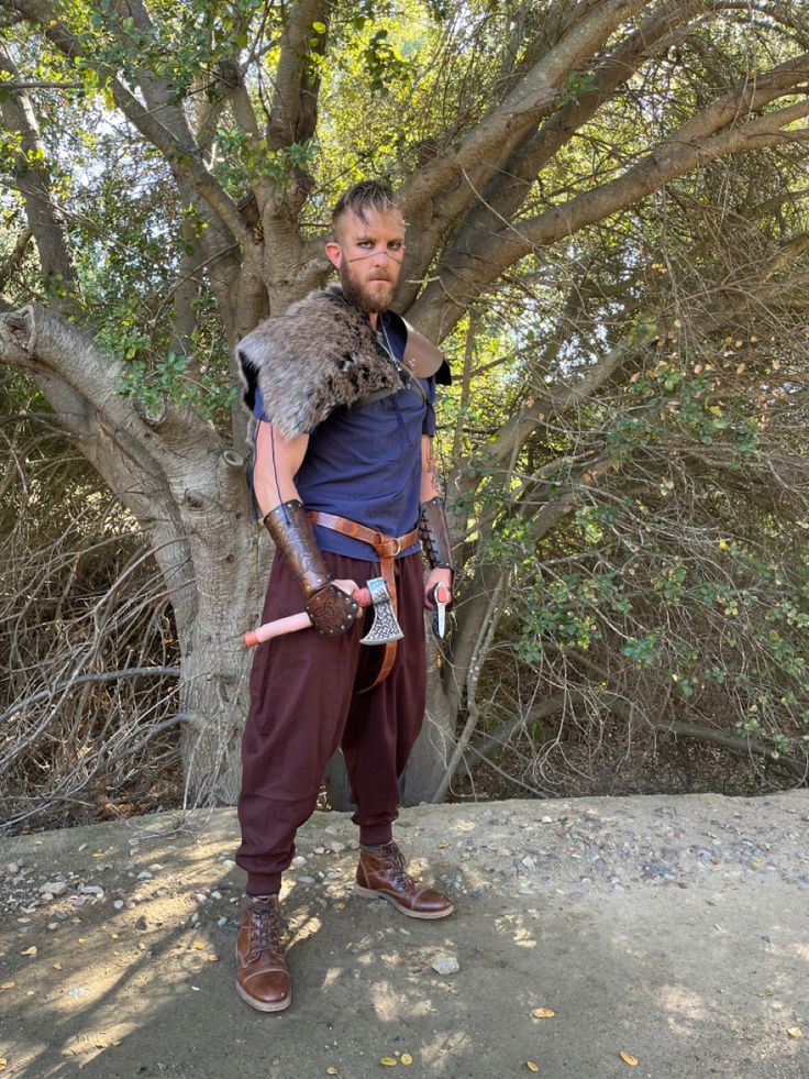
POLYGON ((339 288, 310 293, 285 315, 265 319, 242 338, 236 355, 245 405, 288 439, 313 431, 340 406, 407 385, 367 318, 339 288))

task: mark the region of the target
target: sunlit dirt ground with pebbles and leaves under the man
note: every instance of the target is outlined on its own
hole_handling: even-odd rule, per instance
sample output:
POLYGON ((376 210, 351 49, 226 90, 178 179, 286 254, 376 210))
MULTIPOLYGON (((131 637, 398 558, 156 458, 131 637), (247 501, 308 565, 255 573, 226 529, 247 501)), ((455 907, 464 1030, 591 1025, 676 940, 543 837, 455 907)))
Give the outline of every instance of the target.
POLYGON ((808 823, 807 791, 407 810, 411 868, 456 902, 431 923, 355 896, 355 828, 317 814, 278 1015, 233 991, 232 810, 5 839, 0 1071, 806 1079, 808 823))

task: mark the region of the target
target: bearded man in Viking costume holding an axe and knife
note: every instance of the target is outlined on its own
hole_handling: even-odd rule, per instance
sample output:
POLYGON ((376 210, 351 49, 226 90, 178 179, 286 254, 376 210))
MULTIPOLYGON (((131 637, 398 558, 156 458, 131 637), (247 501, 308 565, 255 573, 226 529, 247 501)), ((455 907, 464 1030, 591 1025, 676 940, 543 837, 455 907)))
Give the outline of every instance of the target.
POLYGON ((237 350, 245 401, 259 419, 254 494, 277 550, 264 620, 304 607, 313 626, 261 645, 251 675, 236 990, 263 1012, 291 1002, 281 873, 339 746, 357 806, 358 894, 415 918, 453 910, 407 873, 391 833, 398 780, 424 713, 423 609, 435 585, 452 584, 432 453, 434 376, 448 382, 448 372, 441 353, 389 311, 404 256, 390 188, 368 180, 346 191, 332 234, 325 253, 341 288, 267 319, 237 350), (403 638, 366 647, 352 593, 380 572, 403 638))

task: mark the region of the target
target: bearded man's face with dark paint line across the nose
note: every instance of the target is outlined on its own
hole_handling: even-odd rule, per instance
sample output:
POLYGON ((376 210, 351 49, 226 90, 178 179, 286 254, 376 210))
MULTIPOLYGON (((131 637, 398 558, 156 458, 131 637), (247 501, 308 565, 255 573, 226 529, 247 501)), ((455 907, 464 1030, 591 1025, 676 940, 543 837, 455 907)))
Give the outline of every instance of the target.
POLYGON ((366 210, 365 220, 348 210, 337 220, 325 253, 350 302, 368 313, 385 311, 399 288, 404 219, 398 210, 366 210))

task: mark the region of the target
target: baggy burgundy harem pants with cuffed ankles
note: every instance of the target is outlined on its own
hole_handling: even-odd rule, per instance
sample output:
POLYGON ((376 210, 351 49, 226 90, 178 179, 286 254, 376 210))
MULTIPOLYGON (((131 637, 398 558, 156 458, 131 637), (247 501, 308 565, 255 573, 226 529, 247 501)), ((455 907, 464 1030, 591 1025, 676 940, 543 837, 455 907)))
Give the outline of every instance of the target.
MULTIPOLYGON (((323 553, 336 579, 362 587, 378 576, 372 561, 323 553)), ((399 775, 421 729, 426 685, 423 576, 420 554, 396 561, 398 620, 404 637, 396 662, 367 693, 381 662, 381 646, 361 645, 370 615, 346 632, 314 629, 259 645, 250 681, 250 712, 242 739, 236 861, 253 895, 277 892, 295 855, 296 830, 318 801, 323 772, 342 746, 357 811, 359 840, 388 843, 398 816, 399 775)), ((303 596, 282 558, 276 558, 262 621, 303 609, 303 596)))

